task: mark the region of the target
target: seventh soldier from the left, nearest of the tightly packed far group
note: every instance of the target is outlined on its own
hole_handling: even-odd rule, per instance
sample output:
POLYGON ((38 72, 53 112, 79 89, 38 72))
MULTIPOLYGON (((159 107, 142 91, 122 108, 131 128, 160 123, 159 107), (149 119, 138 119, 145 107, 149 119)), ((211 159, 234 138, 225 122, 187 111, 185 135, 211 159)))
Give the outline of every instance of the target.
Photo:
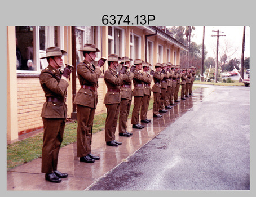
POLYGON ((161 81, 164 78, 164 75, 161 74, 162 65, 160 63, 156 63, 155 65, 156 71, 153 74, 154 85, 151 89, 154 96, 154 103, 153 103, 153 117, 162 117, 159 114, 159 103, 161 97, 161 81))

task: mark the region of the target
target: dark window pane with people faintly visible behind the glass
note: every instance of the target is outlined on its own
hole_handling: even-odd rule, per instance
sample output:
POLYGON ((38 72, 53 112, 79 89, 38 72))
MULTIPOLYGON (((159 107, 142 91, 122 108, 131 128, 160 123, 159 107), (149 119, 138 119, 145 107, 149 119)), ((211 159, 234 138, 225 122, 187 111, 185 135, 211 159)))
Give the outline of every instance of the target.
POLYGON ((16 57, 17 70, 36 70, 32 26, 16 26, 16 57))

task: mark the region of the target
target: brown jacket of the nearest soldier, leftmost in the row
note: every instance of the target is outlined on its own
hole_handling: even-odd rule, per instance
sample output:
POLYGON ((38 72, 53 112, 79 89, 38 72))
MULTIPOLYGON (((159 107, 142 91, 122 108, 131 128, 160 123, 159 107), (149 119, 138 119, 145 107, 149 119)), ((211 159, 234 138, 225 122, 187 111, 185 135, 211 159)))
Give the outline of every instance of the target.
MULTIPOLYGON (((45 92, 45 97, 56 97, 64 100, 67 97, 67 78, 61 76, 61 71, 48 65, 41 71, 39 80, 45 92)), ((67 118, 65 102, 45 102, 41 113, 43 118, 67 118)))

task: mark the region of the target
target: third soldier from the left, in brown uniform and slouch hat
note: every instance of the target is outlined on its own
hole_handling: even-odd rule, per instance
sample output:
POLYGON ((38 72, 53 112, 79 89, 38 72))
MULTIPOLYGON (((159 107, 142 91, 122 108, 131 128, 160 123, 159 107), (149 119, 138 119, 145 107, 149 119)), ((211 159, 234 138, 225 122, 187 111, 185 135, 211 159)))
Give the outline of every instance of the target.
POLYGON ((118 61, 121 58, 116 54, 108 55, 108 70, 104 73, 104 81, 108 91, 104 98, 104 104, 107 108, 107 117, 105 121, 105 142, 108 146, 118 146, 122 142, 116 141, 114 133, 116 132, 118 115, 120 113, 120 84, 123 80, 125 69, 121 69, 120 75, 117 74, 118 61))

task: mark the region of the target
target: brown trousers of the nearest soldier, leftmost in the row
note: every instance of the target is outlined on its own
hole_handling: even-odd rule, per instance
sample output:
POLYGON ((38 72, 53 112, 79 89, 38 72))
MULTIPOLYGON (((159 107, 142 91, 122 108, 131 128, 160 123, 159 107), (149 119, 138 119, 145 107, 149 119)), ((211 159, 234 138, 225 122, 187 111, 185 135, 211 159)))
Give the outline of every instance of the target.
POLYGON ((64 118, 43 119, 42 173, 52 173, 57 169, 60 145, 66 120, 64 118))

